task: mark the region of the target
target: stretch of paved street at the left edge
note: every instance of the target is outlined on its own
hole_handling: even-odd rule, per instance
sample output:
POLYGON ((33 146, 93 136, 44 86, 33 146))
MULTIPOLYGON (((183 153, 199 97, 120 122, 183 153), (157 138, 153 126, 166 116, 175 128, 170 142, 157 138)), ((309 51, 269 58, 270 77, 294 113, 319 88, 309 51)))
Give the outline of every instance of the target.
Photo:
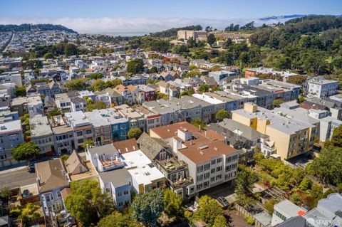
POLYGON ((14 171, 0 171, 0 187, 9 186, 11 189, 36 182, 36 174, 29 173, 26 168, 14 171))

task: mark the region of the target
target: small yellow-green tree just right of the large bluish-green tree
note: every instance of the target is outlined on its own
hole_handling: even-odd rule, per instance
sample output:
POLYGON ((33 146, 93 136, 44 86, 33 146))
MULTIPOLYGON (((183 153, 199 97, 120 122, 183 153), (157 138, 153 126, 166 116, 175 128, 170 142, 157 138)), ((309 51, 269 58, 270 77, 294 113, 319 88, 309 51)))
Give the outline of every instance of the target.
POLYGON ((167 216, 175 218, 183 216, 184 210, 182 208, 182 196, 170 189, 165 189, 163 201, 165 207, 164 212, 167 216))

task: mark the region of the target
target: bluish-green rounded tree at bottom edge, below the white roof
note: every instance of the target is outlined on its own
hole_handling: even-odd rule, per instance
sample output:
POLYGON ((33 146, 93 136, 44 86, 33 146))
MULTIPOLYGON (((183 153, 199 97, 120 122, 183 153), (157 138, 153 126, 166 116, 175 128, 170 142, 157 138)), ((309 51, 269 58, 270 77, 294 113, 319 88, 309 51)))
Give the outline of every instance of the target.
POLYGON ((162 190, 157 188, 144 194, 138 194, 131 207, 133 209, 132 217, 135 220, 144 223, 145 226, 155 226, 157 218, 164 211, 162 190))

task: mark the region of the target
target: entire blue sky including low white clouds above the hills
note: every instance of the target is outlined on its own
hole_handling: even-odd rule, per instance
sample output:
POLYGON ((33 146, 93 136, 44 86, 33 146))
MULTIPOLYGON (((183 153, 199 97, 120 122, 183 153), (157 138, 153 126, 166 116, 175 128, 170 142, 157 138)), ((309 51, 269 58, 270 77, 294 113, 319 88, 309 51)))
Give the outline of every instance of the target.
POLYGON ((89 33, 157 31, 187 23, 247 23, 264 16, 340 15, 341 9, 341 0, 0 0, 0 23, 61 23, 89 33))

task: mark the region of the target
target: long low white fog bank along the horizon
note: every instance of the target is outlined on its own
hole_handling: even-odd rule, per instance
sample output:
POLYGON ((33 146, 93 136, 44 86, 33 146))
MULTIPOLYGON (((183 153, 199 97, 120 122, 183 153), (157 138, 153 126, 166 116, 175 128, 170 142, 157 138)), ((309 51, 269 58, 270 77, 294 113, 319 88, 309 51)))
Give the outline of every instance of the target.
MULTIPOLYGON (((182 26, 200 24, 203 27, 212 26, 217 29, 224 29, 230 23, 239 23, 240 26, 249 21, 256 21, 261 25, 264 21, 259 19, 187 19, 187 18, 59 18, 59 19, 1 19, 0 24, 21 24, 21 23, 53 23, 61 24, 79 33, 135 33, 135 32, 155 32, 168 28, 178 28, 182 26)), ((277 23, 283 20, 272 20, 267 23, 277 23)))

